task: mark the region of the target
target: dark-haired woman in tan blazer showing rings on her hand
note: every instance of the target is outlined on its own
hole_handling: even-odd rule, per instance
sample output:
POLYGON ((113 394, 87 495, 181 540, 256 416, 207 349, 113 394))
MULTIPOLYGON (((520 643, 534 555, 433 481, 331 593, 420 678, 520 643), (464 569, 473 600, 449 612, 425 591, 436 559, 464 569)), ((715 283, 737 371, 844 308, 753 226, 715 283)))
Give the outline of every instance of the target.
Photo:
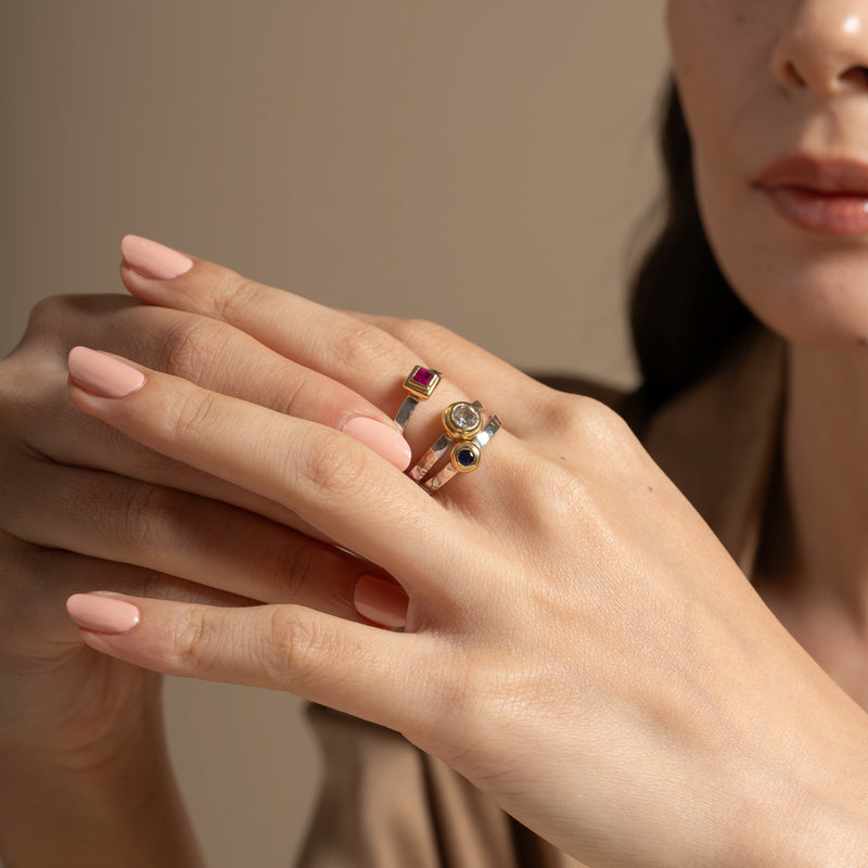
MULTIPOLYGON (((779 337, 704 336, 707 371, 653 368, 625 411, 732 553, 596 401, 434 327, 129 239, 122 273, 149 307, 55 302, 4 362, 22 503, 3 526, 9 861, 197 864, 154 669, 293 690, 404 733, 490 800, 427 765, 374 805, 400 820, 424 787, 427 843, 399 821, 400 844, 339 856, 320 835, 309 864, 864 865, 868 3, 671 0, 668 23, 709 239, 779 337), (137 346, 145 324, 165 337, 137 346), (73 343, 75 408, 56 353, 73 343), (443 381, 407 449, 390 417, 418 365, 443 381), (445 406, 474 399, 503 430, 447 438, 480 468, 435 469, 448 484, 430 496, 401 471, 445 406)), ((697 255, 678 229, 671 272, 697 255)), ((324 724, 343 726, 369 745, 384 732, 324 724)), ((375 763, 357 756, 365 781, 375 763)), ((332 816, 362 816, 367 795, 332 816)))

